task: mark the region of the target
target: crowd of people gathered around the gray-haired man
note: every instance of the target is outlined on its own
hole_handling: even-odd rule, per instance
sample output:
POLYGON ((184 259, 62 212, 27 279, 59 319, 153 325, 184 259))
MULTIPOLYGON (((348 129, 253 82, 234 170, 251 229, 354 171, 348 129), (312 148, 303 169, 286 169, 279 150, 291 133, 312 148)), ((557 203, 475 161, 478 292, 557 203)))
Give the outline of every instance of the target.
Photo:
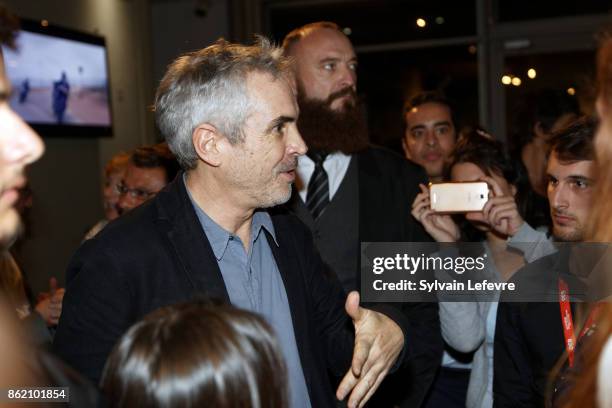
MULTIPOLYGON (((7 46, 15 23, 1 10, 7 46)), ((334 23, 281 47, 218 40, 182 55, 155 95, 164 142, 109 161, 104 218, 65 289, 52 279, 36 306, 8 250, 44 145, 5 97, 0 389, 68 387, 77 407, 612 406, 612 306, 567 294, 584 258, 559 245, 612 241, 612 40, 597 67, 597 118, 543 92, 511 148, 420 93, 402 157, 369 143, 357 56, 334 23), (440 182, 484 182, 489 197, 436 212, 440 182), (363 302, 362 242, 477 243, 488 279, 552 299, 363 302)))

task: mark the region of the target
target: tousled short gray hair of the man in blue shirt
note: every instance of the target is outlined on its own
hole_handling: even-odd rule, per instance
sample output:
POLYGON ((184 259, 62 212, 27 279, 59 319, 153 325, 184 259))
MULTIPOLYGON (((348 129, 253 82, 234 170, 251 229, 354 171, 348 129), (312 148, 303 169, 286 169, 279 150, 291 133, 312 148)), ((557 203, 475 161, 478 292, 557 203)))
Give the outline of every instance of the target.
POLYGON ((170 64, 155 94, 155 119, 181 167, 197 165, 191 135, 201 123, 215 126, 232 144, 244 140, 242 130, 252 110, 248 74, 257 71, 276 79, 288 69, 282 49, 264 37, 252 46, 219 39, 170 64))

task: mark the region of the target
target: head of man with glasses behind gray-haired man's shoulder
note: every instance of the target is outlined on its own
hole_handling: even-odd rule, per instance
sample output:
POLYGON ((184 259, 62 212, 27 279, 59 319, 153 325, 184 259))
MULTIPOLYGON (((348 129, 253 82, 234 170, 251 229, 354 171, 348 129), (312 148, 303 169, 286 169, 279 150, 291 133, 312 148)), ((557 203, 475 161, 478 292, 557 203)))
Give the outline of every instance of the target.
POLYGON ((119 214, 155 196, 174 179, 178 170, 178 162, 166 144, 143 146, 134 150, 119 184, 119 214))

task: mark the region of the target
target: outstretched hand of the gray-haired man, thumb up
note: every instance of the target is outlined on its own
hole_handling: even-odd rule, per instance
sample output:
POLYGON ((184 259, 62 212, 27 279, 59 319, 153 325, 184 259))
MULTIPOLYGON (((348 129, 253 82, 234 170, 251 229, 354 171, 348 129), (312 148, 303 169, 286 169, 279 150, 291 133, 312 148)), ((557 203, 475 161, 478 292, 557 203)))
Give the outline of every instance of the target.
POLYGON ((349 408, 363 407, 402 351, 404 333, 387 316, 359 306, 358 292, 349 293, 345 308, 355 325, 355 348, 336 397, 343 400, 350 393, 349 408))

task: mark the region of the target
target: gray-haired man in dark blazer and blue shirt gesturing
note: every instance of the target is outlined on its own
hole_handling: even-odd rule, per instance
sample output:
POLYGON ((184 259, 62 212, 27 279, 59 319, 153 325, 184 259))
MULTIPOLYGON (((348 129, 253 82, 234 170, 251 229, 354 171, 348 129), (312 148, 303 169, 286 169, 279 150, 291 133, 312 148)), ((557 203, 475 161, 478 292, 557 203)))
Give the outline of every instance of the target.
POLYGON ((264 210, 289 199, 306 152, 281 50, 219 41, 180 57, 155 108, 185 173, 76 253, 58 352, 97 380, 132 323, 204 294, 272 325, 292 407, 335 406, 328 369, 346 373, 339 398, 365 403, 400 355, 406 326, 393 308, 359 307, 357 293, 345 306, 308 229, 282 210, 264 210))

